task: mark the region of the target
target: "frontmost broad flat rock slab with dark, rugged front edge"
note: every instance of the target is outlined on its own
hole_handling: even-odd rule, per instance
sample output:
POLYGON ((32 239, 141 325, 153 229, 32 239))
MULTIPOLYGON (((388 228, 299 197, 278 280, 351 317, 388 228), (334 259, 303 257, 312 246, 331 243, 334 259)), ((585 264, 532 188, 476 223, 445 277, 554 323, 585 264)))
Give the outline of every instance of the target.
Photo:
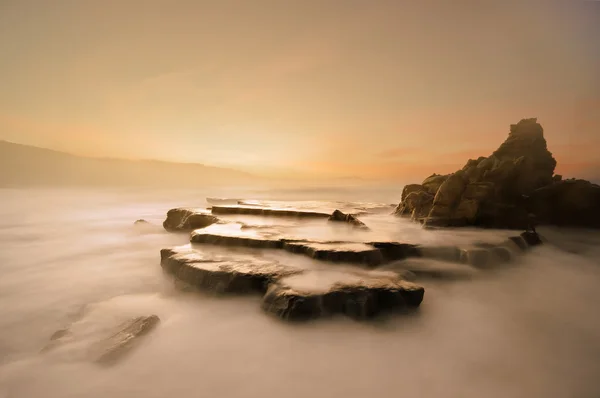
POLYGON ((382 312, 416 308, 425 289, 382 273, 310 271, 273 283, 262 308, 285 320, 333 314, 368 319, 382 312))

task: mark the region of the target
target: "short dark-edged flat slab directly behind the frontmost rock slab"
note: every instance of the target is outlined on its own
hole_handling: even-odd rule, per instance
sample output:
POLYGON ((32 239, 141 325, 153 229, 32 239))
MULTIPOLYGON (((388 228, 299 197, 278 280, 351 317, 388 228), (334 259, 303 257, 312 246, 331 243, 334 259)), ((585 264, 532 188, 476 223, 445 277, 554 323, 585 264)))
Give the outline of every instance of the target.
POLYGON ((301 253, 315 260, 345 262, 376 266, 383 262, 381 251, 365 243, 285 242, 283 248, 301 253))

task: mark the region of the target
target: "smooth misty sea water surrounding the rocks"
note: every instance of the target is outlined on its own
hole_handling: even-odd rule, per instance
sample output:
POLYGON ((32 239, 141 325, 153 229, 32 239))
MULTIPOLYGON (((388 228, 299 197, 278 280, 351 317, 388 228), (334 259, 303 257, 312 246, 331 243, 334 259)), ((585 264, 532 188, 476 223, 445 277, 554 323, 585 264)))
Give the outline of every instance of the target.
MULTIPOLYGON (((0 398, 599 397, 597 232, 541 229, 546 244, 514 264, 420 281, 417 314, 375 322, 288 324, 263 313, 260 297, 177 290, 159 264, 161 248, 188 241, 162 229, 166 211, 211 196, 362 207, 374 234, 398 241, 506 234, 426 231, 391 217, 400 190, 1 190, 0 398), (151 225, 134 226, 140 218, 151 225), (122 362, 88 360, 90 342, 150 314, 160 325, 122 362), (67 327, 72 341, 41 352, 67 327)), ((349 238, 343 228, 288 227, 349 238)))

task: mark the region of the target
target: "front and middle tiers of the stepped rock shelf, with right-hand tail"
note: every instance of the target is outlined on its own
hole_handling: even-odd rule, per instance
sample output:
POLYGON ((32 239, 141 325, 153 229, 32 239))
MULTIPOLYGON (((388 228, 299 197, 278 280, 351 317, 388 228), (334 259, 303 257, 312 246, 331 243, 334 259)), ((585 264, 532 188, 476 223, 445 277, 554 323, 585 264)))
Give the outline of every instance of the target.
POLYGON ((215 224, 192 233, 194 243, 163 249, 161 266, 176 280, 217 294, 262 294, 262 308, 285 320, 343 314, 369 319, 381 313, 417 308, 424 288, 415 279, 466 279, 481 270, 512 261, 541 243, 524 232, 495 244, 469 247, 423 246, 397 242, 311 242, 286 240, 271 230, 244 230, 238 224, 215 224), (229 234, 215 230, 229 228, 229 234), (239 235, 246 236, 239 236, 239 235), (266 236, 265 236, 266 235, 266 236), (240 245, 246 252, 213 252, 209 245, 240 245), (370 269, 298 267, 259 256, 253 249, 278 249, 286 256, 359 263, 370 269), (225 254, 218 254, 225 253, 225 254), (400 260, 398 260, 400 259, 400 260))

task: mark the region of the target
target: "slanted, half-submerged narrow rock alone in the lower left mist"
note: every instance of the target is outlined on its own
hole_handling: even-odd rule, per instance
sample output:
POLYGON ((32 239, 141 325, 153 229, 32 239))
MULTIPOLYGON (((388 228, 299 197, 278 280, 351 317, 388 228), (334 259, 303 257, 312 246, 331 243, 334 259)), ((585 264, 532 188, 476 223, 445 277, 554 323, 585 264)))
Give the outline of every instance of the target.
POLYGON ((140 316, 125 322, 119 330, 92 348, 96 362, 113 364, 137 345, 140 338, 152 331, 160 319, 156 315, 140 316))

